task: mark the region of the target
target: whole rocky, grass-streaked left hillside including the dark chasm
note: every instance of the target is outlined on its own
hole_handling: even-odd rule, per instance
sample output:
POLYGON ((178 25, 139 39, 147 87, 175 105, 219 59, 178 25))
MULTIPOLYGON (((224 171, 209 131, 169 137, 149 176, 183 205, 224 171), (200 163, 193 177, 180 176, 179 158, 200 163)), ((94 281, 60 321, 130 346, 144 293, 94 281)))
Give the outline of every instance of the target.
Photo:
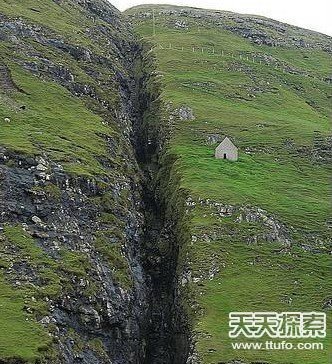
MULTIPOLYGON (((160 127, 146 118, 160 107, 153 60, 106 1, 17 2, 0 13, 0 94, 8 114, 0 140, 1 274, 24 300, 27 320, 43 326, 43 340, 28 353, 9 341, 1 360, 183 362, 185 324, 175 319, 182 315, 179 242, 156 192, 162 139, 151 142, 151 134, 160 127), (71 23, 59 27, 61 17, 71 23), (51 133, 30 130, 29 148, 7 138, 26 112, 35 111, 43 125, 57 123, 52 104, 43 114, 39 100, 22 103, 20 94, 29 91, 12 74, 17 69, 37 87, 66 89, 66 100, 79 98, 78 108, 98 115, 94 139, 84 140, 82 130, 79 142, 69 119, 51 133), (94 143, 99 154, 89 151, 94 143)), ((78 109, 68 112, 80 118, 78 109)))

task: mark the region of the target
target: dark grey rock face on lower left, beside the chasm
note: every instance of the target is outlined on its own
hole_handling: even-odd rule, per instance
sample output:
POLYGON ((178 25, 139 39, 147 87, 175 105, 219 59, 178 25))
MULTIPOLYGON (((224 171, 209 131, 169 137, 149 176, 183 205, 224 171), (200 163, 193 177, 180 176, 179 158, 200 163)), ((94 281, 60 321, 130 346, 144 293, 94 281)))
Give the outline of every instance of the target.
POLYGON ((70 176, 46 156, 25 157, 7 150, 1 153, 0 174, 1 226, 9 240, 5 275, 13 285, 33 283, 31 297, 47 300, 47 313, 34 308, 33 303, 31 307, 28 303, 26 310, 34 313, 47 329, 52 327, 59 350, 56 360, 139 362, 144 355, 142 331, 148 304, 139 260, 143 218, 137 210, 137 182, 121 175, 117 182, 70 176), (101 182, 107 187, 100 187, 101 182), (120 191, 128 186, 134 190, 124 206, 120 191), (112 198, 112 205, 98 202, 106 196, 112 198), (113 224, 100 221, 101 214, 110 212, 115 217, 113 224, 116 219, 123 224, 123 236, 110 233, 113 224), (39 292, 44 285, 39 272, 42 263, 34 256, 22 261, 20 255, 11 252, 16 249, 15 241, 7 226, 21 226, 21 234, 25 231, 31 236, 34 244, 54 262, 54 274, 63 281, 59 294, 39 292), (104 247, 97 244, 98 239, 103 239, 104 247), (118 279, 115 262, 108 261, 101 251, 118 244, 123 258, 117 259, 123 259, 127 267, 120 272, 128 274, 125 281, 118 279), (70 330, 75 330, 75 339, 70 330), (101 340, 109 359, 103 359, 89 347, 89 340, 95 338, 101 340), (75 353, 78 342, 82 351, 75 353))

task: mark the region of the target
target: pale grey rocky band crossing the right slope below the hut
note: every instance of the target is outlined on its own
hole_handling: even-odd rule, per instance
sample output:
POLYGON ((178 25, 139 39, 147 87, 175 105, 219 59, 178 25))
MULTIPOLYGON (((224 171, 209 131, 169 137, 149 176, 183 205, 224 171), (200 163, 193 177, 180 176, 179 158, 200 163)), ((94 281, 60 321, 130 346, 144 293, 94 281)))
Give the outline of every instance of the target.
MULTIPOLYGON (((232 231, 227 229, 210 229, 208 232, 200 231, 191 237, 194 245, 197 241, 206 243, 222 240, 225 237, 229 241, 236 237, 241 237, 247 244, 277 243, 276 253, 289 253, 291 247, 299 246, 303 250, 319 253, 329 249, 331 240, 315 234, 305 234, 298 231, 293 226, 288 226, 276 216, 268 211, 256 206, 227 205, 219 201, 210 199, 194 199, 188 197, 186 201, 186 213, 190 216, 192 210, 199 206, 204 209, 204 216, 213 217, 216 221, 222 222, 224 219, 231 218, 234 222, 232 231), (247 224, 252 224, 250 229, 247 224), (246 227, 243 228, 242 225, 246 227), (298 236, 301 236, 298 239, 298 236)), ((218 257, 216 257, 218 259, 218 257)), ((213 260, 213 259, 212 259, 213 260)), ((211 268, 208 278, 213 278, 217 272, 211 268)), ((206 277, 205 277, 206 278, 206 277)))

